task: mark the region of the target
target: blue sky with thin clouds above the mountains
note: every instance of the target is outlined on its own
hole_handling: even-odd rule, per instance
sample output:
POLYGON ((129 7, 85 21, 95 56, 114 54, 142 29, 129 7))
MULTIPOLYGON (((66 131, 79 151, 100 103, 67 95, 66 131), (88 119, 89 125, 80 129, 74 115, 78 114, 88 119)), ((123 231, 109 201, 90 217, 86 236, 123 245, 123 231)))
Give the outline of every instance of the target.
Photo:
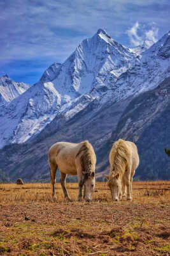
POLYGON ((1 0, 0 13, 0 76, 30 84, 99 28, 128 47, 170 30, 169 0, 1 0))

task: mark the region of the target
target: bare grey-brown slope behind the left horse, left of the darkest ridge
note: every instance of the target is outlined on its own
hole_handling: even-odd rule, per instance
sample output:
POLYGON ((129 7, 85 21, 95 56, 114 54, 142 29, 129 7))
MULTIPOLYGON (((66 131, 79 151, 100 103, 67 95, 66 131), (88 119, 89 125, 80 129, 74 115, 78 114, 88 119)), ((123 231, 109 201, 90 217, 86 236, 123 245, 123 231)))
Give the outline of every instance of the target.
POLYGON ((29 143, 5 146, 0 150, 0 168, 6 170, 12 180, 17 177, 41 179, 49 177, 48 150, 56 141, 79 143, 89 140, 95 150, 101 148, 111 137, 113 127, 116 128, 131 98, 114 105, 107 102, 100 109, 98 100, 92 100, 69 120, 64 115, 57 116, 29 143))

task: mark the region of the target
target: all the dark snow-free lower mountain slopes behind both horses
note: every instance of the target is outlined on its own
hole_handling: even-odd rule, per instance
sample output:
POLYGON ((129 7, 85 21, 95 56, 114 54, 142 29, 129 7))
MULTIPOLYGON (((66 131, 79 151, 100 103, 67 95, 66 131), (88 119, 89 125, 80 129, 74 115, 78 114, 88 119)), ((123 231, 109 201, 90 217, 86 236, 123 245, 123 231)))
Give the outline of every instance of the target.
POLYGON ((109 172, 108 157, 119 138, 136 143, 140 164, 136 179, 170 179, 169 147, 170 77, 154 90, 129 97, 98 109, 97 99, 69 120, 55 118, 36 138, 24 145, 14 144, 0 150, 0 168, 11 179, 49 178, 48 149, 56 141, 78 143, 89 140, 97 156, 97 177, 109 172))

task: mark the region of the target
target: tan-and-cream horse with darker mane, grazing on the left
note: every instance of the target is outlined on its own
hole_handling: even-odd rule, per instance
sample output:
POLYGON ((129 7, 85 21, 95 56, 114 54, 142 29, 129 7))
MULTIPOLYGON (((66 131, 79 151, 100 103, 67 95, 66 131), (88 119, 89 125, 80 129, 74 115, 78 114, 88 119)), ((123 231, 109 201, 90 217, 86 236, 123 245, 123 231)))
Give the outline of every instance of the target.
POLYGON ((65 198, 70 200, 66 189, 66 175, 78 175, 78 200, 81 200, 82 187, 84 186, 83 198, 90 201, 95 187, 96 155, 89 141, 82 141, 78 144, 57 142, 50 148, 48 157, 53 198, 55 198, 55 175, 59 167, 60 183, 65 198))

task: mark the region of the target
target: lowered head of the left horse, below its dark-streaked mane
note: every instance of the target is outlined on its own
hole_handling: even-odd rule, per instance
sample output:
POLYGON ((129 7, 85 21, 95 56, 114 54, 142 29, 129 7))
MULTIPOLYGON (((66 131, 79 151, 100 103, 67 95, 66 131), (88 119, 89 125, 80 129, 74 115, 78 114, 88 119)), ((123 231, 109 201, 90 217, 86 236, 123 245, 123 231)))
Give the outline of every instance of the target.
POLYGON ((84 185, 84 199, 87 202, 92 200, 92 193, 95 188, 95 173, 90 172, 86 173, 83 178, 83 185, 84 185))

